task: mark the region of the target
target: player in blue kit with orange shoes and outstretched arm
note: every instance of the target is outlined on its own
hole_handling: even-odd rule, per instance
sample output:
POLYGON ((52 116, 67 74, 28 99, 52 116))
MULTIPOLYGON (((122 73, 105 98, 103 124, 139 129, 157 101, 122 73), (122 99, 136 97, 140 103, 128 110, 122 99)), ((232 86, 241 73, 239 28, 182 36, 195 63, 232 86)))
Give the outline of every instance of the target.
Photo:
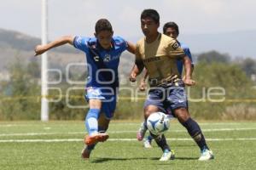
POLYGON ((86 54, 88 77, 85 99, 89 102, 90 110, 85 118, 88 135, 84 137, 82 157, 88 159, 97 142, 108 139, 106 131, 116 108, 119 88, 119 57, 125 50, 134 54, 135 46, 122 37, 113 37, 110 22, 101 19, 96 22, 95 37, 61 37, 49 44, 38 45, 35 55, 66 43, 86 54))

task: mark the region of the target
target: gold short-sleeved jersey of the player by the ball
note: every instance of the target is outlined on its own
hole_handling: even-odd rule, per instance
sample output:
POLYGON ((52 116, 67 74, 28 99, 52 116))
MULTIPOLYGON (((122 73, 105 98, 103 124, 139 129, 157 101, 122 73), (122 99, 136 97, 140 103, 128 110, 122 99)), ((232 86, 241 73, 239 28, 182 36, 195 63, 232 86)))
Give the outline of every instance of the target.
POLYGON ((137 42, 136 59, 143 61, 148 70, 150 86, 180 78, 177 59, 185 56, 177 40, 159 34, 154 42, 147 43, 145 37, 137 42))

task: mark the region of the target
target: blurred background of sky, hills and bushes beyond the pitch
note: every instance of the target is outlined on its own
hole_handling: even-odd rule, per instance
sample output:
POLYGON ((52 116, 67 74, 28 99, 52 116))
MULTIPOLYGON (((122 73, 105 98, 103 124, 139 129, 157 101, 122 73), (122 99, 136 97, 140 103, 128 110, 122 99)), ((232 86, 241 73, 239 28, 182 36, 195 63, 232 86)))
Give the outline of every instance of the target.
MULTIPOLYGON (((0 3, 0 120, 40 120, 41 57, 33 57, 33 49, 41 43, 42 1, 0 3)), ((256 120, 255 6, 253 0, 48 0, 48 39, 93 37, 96 20, 107 18, 114 35, 136 43, 143 37, 141 12, 154 8, 160 14, 159 31, 175 21, 177 39, 192 53, 197 84, 188 88, 190 114, 203 120, 256 120)), ((49 84, 54 100, 49 120, 83 120, 88 108, 79 82, 87 73, 76 63, 86 62, 84 54, 65 45, 48 55, 49 69, 57 70, 49 71, 49 82, 57 82, 49 84)), ((121 56, 115 119, 143 117, 145 94, 137 95, 138 83, 128 81, 133 62, 131 54, 121 56)))

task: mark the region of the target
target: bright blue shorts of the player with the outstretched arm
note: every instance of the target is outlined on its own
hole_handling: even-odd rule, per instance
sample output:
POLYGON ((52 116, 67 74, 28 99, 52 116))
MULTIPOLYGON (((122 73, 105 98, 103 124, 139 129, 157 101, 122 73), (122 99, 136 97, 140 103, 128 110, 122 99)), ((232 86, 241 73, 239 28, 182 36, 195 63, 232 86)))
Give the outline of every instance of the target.
POLYGON ((85 99, 89 101, 90 99, 101 99, 102 109, 106 118, 111 119, 116 108, 116 92, 113 88, 86 88, 85 99))

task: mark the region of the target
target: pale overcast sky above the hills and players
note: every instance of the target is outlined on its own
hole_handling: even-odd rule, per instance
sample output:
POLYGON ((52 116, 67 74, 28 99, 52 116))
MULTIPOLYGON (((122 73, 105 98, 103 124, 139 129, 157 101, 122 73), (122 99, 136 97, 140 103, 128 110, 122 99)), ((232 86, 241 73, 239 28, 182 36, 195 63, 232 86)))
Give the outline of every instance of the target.
MULTIPOLYGON (((0 28, 41 36, 41 0, 0 0, 0 28)), ((160 27, 175 21, 182 34, 256 30, 255 0, 48 0, 49 39, 93 36, 96 20, 107 18, 115 35, 142 37, 140 14, 154 8, 160 27)), ((161 31, 161 29, 160 29, 161 31)))

